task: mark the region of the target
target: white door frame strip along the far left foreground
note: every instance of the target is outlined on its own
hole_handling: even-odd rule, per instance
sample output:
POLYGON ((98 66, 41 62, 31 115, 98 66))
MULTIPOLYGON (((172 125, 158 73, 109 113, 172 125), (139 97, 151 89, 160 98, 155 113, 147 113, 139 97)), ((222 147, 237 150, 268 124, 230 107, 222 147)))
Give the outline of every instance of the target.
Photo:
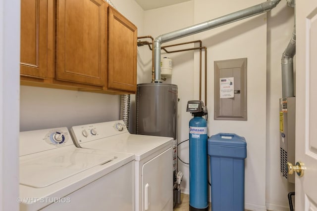
POLYGON ((0 211, 19 204, 20 0, 0 0, 0 211))

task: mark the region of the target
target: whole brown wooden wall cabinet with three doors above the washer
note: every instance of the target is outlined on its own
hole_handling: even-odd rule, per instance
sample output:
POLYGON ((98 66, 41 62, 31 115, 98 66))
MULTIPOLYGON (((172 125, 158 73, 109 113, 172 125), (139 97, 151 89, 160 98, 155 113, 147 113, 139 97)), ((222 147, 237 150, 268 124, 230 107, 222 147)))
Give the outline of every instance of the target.
POLYGON ((136 92, 137 28, 104 0, 21 0, 21 84, 136 92))

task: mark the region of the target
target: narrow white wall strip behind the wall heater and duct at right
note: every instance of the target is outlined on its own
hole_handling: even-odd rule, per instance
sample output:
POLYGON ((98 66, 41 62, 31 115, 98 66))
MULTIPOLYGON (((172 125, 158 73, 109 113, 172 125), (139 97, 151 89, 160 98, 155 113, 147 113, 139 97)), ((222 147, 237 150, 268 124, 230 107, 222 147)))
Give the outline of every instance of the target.
POLYGON ((266 207, 268 210, 289 211, 287 194, 295 189, 294 184, 288 183, 279 174, 281 57, 292 37, 293 14, 294 9, 286 6, 285 1, 281 1, 267 16, 266 207))

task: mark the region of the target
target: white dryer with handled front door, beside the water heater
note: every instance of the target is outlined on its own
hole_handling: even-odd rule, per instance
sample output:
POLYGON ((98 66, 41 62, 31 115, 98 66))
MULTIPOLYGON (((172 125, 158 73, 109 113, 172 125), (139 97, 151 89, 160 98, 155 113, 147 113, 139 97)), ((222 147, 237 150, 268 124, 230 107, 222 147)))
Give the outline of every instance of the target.
POLYGON ((173 210, 173 138, 130 134, 123 121, 75 126, 75 144, 135 155, 135 210, 173 210))

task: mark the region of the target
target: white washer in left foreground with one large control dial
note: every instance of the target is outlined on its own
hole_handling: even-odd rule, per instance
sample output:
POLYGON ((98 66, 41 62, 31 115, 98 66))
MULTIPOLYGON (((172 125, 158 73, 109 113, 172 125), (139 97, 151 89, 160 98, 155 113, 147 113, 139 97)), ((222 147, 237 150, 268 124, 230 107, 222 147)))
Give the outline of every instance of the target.
POLYGON ((21 211, 133 211, 134 155, 77 148, 66 127, 20 132, 21 211))

